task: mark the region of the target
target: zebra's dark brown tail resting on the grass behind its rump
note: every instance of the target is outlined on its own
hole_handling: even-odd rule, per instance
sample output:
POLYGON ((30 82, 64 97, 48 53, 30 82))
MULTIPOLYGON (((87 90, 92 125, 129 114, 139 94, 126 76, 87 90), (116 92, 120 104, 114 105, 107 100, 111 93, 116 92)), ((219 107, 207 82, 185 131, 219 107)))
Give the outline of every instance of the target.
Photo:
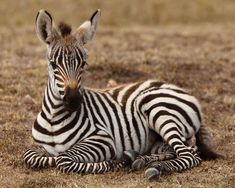
POLYGON ((211 138, 207 128, 202 125, 196 134, 196 145, 198 147, 199 156, 204 160, 215 160, 224 158, 211 149, 211 138))

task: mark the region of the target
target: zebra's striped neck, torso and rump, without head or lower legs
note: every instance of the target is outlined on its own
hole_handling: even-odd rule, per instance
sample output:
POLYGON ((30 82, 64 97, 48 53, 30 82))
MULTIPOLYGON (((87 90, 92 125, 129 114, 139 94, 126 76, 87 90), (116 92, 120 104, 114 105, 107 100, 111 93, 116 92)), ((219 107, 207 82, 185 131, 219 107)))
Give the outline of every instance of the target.
POLYGON ((59 100, 53 98, 48 85, 42 111, 33 126, 33 138, 50 154, 57 156, 74 144, 96 134, 98 130, 104 130, 110 137, 104 145, 109 143, 112 149, 106 148, 104 152, 100 151, 99 157, 91 156, 85 162, 97 162, 113 157, 119 159, 123 151, 127 150, 144 154, 153 144, 149 141, 149 130, 155 129, 156 121, 160 121, 157 125, 160 126, 161 122, 169 119, 168 116, 160 116, 153 122, 152 119, 157 118, 159 111, 164 111, 177 115, 179 119, 174 119, 177 119, 175 121, 178 122, 178 129, 182 130, 182 138, 190 139, 201 125, 200 113, 197 114, 200 111, 199 106, 194 97, 179 88, 177 90, 175 86, 157 81, 134 83, 106 91, 84 88, 80 110, 69 113, 63 109, 59 100), (153 106, 158 107, 150 111, 153 106), (174 110, 174 107, 181 111, 188 109, 188 112, 180 113, 174 110))

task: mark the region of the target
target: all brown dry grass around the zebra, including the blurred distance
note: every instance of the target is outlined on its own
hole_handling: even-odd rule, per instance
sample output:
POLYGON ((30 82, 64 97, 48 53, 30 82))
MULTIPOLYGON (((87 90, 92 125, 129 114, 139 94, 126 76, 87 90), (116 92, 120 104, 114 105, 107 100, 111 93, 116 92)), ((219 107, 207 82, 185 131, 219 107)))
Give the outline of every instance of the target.
POLYGON ((235 3, 126 2, 1 1, 0 187, 234 187, 235 3), (155 78, 190 90, 201 101, 215 150, 225 159, 154 182, 144 178, 144 171, 80 176, 27 169, 22 153, 33 144, 31 125, 47 81, 45 47, 34 32, 40 8, 73 26, 101 8, 99 31, 88 46, 84 84, 105 87, 109 79, 126 83, 155 78))

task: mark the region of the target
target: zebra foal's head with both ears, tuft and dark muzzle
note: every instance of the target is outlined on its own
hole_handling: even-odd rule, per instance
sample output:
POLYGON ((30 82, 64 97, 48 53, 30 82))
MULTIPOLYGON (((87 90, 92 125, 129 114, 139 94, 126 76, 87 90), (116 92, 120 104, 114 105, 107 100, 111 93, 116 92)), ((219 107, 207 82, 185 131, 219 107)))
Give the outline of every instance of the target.
POLYGON ((87 59, 84 45, 94 37, 100 15, 97 10, 73 33, 65 23, 54 27, 46 10, 40 10, 36 17, 37 36, 47 46, 50 87, 71 111, 81 104, 81 76, 87 59))

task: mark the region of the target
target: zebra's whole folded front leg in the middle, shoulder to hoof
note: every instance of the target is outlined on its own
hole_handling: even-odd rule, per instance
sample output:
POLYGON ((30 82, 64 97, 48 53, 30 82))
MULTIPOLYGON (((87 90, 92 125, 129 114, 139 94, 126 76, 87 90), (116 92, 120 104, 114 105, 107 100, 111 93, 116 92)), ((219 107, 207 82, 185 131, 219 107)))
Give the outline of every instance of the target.
POLYGON ((104 173, 130 165, 136 158, 134 151, 125 151, 115 160, 116 149, 112 137, 104 130, 77 143, 56 157, 56 167, 66 173, 104 173))

